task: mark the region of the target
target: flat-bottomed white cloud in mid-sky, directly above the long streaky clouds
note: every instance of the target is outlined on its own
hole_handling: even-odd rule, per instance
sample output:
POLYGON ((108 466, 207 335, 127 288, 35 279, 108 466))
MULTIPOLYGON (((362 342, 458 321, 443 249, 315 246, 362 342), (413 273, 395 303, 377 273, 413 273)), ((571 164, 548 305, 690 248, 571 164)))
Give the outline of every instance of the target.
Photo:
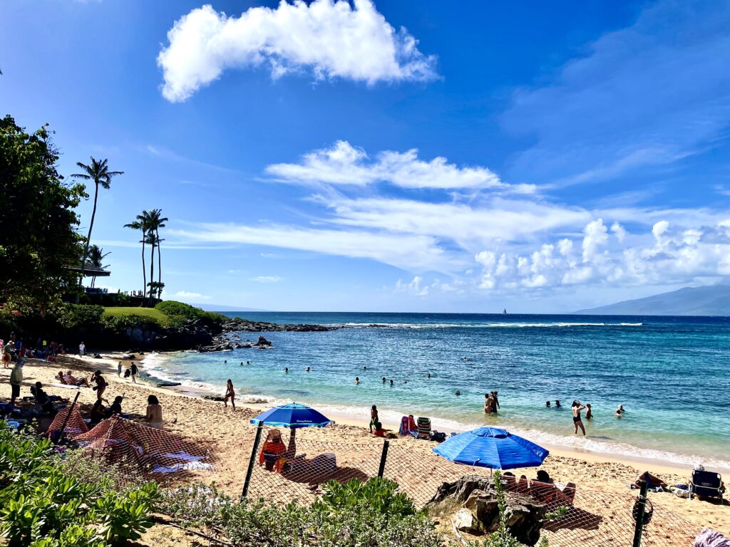
POLYGON ((280 182, 366 186, 387 182, 402 188, 458 190, 464 188, 533 193, 532 185, 507 185, 483 166, 456 166, 446 158, 418 158, 418 150, 378 152, 370 159, 361 148, 337 141, 329 148, 305 154, 299 163, 275 163, 266 173, 280 182))

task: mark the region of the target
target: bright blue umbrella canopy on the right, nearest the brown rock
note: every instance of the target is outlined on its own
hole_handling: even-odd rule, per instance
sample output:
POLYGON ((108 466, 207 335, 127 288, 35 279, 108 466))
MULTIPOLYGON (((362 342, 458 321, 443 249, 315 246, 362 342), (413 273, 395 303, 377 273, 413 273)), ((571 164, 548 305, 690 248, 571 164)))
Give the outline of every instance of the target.
POLYGON ((492 469, 533 468, 549 452, 518 435, 496 427, 479 427, 448 438, 434 452, 451 462, 492 469))

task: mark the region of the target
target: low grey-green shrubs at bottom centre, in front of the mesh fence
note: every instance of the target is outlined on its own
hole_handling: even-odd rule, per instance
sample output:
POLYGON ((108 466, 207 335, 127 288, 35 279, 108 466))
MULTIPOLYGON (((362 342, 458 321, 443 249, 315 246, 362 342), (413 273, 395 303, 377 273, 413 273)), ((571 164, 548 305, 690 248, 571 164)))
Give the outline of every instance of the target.
POLYGON ((441 547, 433 522, 395 487, 383 479, 328 483, 323 500, 307 507, 233 503, 215 486, 193 485, 164 493, 158 508, 183 525, 218 530, 241 547, 441 547))

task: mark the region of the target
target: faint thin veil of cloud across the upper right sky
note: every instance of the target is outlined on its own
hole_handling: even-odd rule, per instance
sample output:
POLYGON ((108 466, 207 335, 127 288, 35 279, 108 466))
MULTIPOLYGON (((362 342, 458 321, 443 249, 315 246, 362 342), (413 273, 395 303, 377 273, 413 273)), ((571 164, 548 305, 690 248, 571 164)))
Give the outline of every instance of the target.
POLYGON ((537 143, 513 173, 560 185, 616 179, 726 138, 729 26, 727 2, 656 1, 546 85, 517 90, 503 123, 537 143))

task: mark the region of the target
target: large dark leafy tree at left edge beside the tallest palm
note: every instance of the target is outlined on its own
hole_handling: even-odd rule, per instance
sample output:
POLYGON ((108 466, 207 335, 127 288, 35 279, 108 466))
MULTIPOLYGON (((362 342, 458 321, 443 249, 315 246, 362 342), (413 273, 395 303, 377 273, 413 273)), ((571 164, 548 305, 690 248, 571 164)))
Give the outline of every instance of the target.
POLYGON ((51 134, 47 125, 27 133, 10 116, 0 120, 0 302, 42 316, 76 284, 74 208, 87 197, 58 173, 51 134))

